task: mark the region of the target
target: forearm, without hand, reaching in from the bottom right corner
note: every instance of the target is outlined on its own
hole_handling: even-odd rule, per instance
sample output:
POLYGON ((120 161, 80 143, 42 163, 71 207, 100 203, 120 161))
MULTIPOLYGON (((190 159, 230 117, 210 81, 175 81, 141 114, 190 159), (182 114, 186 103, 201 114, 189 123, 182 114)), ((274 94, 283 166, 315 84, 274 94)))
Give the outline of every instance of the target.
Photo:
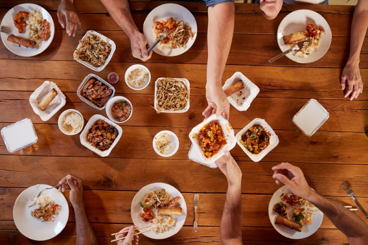
POLYGON ((321 210, 348 237, 350 245, 360 244, 359 241, 368 240, 367 224, 352 211, 331 199, 319 195, 315 191, 312 191, 311 195, 306 199, 321 210), (355 242, 352 243, 352 240, 355 242))

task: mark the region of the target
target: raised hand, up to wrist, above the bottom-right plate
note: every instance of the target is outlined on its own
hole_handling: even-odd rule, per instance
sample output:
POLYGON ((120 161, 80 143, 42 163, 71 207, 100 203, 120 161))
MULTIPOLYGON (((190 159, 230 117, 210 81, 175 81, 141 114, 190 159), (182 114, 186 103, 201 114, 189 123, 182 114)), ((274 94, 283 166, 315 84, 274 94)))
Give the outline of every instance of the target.
POLYGON ((272 170, 274 171, 272 178, 276 180, 276 184, 284 183, 295 195, 305 199, 309 198, 312 188, 309 187, 299 167, 288 162, 282 162, 273 166, 272 170))

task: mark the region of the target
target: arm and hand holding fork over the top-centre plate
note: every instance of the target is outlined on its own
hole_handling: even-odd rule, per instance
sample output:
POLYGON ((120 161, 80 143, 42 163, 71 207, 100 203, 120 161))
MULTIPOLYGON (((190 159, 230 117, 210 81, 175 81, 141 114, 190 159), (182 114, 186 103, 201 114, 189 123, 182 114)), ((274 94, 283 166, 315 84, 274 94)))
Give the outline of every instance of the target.
POLYGON ((146 61, 151 58, 152 52, 147 53, 147 41, 145 36, 139 32, 130 13, 128 0, 101 0, 107 11, 113 17, 116 24, 130 39, 130 47, 134 58, 146 61), (141 55, 143 58, 141 58, 141 55))

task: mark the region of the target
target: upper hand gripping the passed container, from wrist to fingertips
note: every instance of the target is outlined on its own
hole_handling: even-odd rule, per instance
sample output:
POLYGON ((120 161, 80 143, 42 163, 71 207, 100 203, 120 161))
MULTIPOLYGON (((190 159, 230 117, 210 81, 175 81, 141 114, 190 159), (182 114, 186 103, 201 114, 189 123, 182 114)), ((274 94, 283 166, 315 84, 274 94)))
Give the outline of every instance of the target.
POLYGON ((229 120, 230 104, 221 86, 206 86, 208 107, 202 112, 206 118, 212 114, 222 115, 229 120))

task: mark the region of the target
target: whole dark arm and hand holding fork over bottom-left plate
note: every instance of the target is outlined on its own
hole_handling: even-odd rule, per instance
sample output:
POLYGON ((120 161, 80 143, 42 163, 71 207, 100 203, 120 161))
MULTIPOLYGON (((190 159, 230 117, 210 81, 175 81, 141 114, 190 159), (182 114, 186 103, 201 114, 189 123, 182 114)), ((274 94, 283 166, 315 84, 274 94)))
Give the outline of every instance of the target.
POLYGON ((76 245, 97 245, 96 235, 89 223, 83 202, 83 182, 77 176, 68 174, 59 182, 59 191, 63 192, 70 188, 69 199, 74 208, 75 227, 77 229, 76 245), (67 181, 67 183, 65 183, 67 181))

